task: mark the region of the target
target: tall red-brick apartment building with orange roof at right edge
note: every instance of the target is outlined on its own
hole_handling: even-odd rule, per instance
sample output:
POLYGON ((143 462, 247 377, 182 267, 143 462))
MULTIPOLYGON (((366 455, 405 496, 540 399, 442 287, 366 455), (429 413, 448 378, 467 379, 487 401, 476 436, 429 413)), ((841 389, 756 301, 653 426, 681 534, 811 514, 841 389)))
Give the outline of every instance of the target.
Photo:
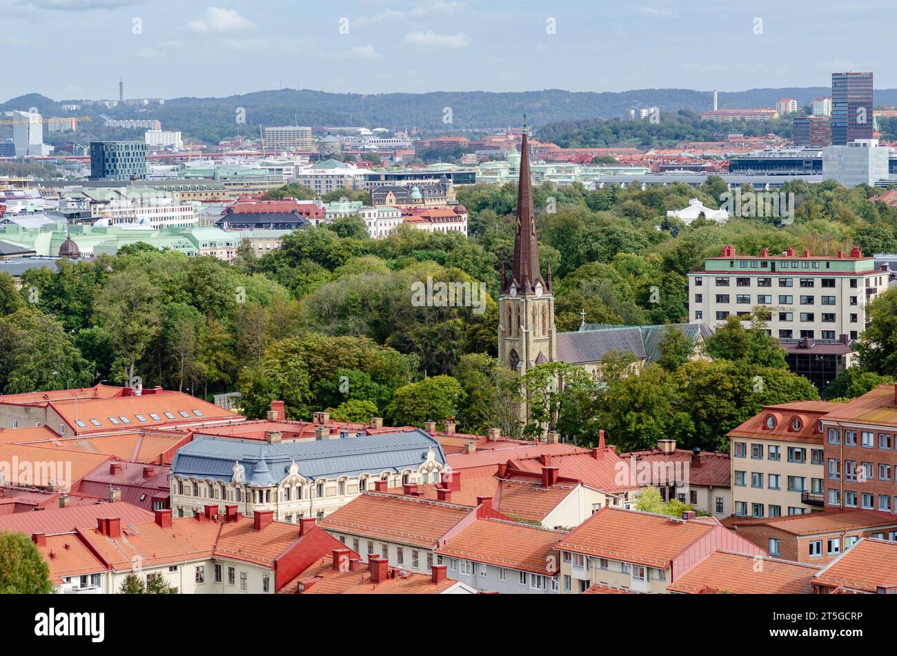
POLYGON ((839 403, 820 423, 825 508, 897 513, 897 385, 839 403))

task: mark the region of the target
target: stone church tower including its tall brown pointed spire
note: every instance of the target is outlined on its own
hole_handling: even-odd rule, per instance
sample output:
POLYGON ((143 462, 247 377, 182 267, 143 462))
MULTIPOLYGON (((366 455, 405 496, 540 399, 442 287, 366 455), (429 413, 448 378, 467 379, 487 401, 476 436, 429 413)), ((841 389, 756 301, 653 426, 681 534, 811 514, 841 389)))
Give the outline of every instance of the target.
POLYGON ((523 126, 520 145, 514 263, 510 278, 501 267, 499 317, 499 359, 503 365, 524 375, 536 365, 556 359, 552 270, 549 265, 543 278, 539 269, 527 125, 523 126))

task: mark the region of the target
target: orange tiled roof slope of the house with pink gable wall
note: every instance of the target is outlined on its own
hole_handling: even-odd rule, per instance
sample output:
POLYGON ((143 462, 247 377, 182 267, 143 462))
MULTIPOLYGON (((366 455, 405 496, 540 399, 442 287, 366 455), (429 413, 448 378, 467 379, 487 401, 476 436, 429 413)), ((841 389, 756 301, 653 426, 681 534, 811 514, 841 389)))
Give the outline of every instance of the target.
POLYGON ((715 526, 718 522, 707 518, 685 521, 605 507, 570 531, 557 548, 663 568, 715 526))

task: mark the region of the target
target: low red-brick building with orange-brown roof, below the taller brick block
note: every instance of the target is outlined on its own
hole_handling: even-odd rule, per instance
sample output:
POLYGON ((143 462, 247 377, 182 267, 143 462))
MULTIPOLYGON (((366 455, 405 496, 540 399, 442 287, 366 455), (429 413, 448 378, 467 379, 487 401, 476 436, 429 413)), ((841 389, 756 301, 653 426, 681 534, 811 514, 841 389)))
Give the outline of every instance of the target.
POLYGON ((897 541, 897 517, 870 510, 827 511, 774 519, 733 517, 726 524, 770 556, 814 565, 831 562, 862 538, 897 541))

